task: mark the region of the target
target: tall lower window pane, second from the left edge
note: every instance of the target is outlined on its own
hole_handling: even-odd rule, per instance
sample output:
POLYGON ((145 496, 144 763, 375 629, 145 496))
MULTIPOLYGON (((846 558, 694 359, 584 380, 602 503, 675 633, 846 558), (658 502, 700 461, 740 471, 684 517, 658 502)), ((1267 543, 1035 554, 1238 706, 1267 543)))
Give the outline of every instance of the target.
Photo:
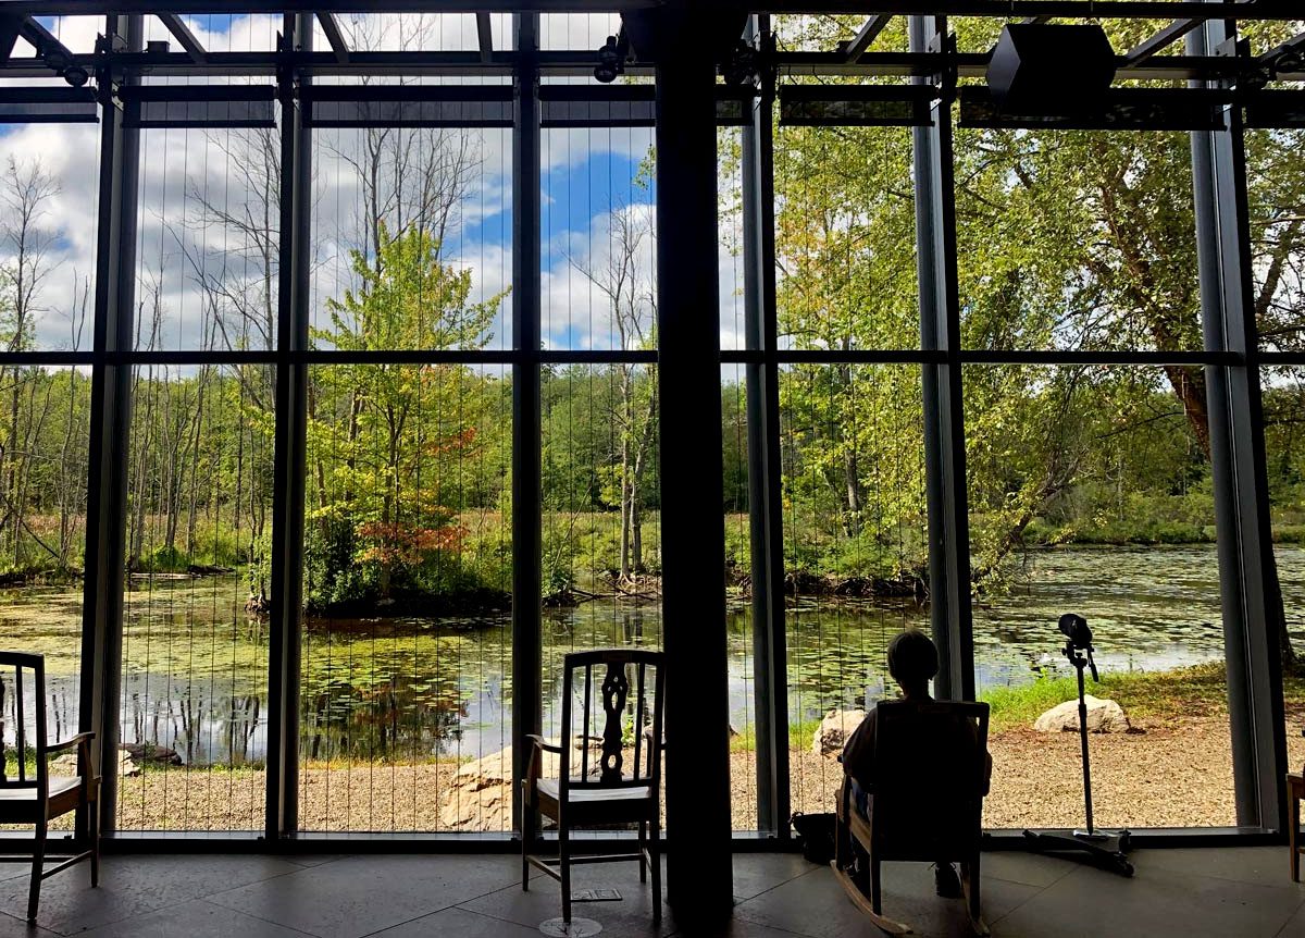
POLYGON ((264 827, 274 388, 133 371, 119 830, 264 827))

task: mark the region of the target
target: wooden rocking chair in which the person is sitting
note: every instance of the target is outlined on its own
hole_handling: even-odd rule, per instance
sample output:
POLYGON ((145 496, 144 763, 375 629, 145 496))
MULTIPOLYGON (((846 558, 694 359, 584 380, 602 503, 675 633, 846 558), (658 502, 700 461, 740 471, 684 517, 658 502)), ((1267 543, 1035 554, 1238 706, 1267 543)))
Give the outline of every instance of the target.
POLYGON ((906 934, 908 925, 883 916, 880 864, 959 861, 970 925, 987 935, 979 845, 989 773, 988 704, 882 702, 874 719, 874 769, 864 813, 850 781, 835 802, 834 874, 870 921, 890 934, 906 934))

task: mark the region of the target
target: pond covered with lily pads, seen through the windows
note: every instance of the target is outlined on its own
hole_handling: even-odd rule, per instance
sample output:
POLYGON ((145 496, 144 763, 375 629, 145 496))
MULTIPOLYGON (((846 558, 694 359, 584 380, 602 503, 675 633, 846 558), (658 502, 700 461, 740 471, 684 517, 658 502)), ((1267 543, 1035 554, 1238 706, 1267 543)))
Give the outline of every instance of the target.
MULTIPOLYGON (((1278 550, 1288 619, 1305 641, 1305 547, 1278 550)), ((188 764, 260 764, 266 750, 266 624, 244 611, 238 577, 136 583, 124 631, 125 743, 176 750, 188 764)), ((1094 628, 1103 671, 1164 670, 1221 660, 1212 546, 1056 549, 1031 553, 1010 594, 975 609, 980 691, 1071 673, 1056 619, 1078 611, 1094 628)), ((885 648, 914 602, 790 602, 792 721, 864 704, 887 679, 885 648)), ((5 647, 44 651, 51 734, 77 720, 80 590, 0 594, 5 647)), ((506 615, 311 621, 303 636, 303 754, 330 764, 420 762, 496 751, 510 741, 512 627, 506 615)), ((598 645, 658 647, 660 609, 612 600, 548 610, 543 636, 545 732, 559 709, 561 656, 598 645)), ((731 724, 752 722, 752 623, 728 615, 731 724)), ((12 728, 12 694, 5 722, 12 728)))

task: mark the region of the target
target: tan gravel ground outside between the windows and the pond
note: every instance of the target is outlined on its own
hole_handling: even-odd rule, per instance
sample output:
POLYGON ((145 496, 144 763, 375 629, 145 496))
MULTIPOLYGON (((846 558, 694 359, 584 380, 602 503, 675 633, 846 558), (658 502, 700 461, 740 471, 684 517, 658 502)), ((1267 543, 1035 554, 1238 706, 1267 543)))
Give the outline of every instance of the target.
MULTIPOLYGON (((1288 717, 1292 766, 1305 762, 1300 724, 1288 717)), ((1096 819, 1116 827, 1205 827, 1236 823, 1228 721, 1202 716, 1134 721, 1144 732, 1091 737, 1096 819)), ((1030 729, 989 741, 992 793, 984 826, 1073 827, 1083 823, 1078 736, 1030 729)), ((756 763, 731 754, 733 826, 756 827, 756 763)), ((673 771, 671 766, 668 771, 673 771)), ((315 768, 300 775, 300 823, 313 831, 440 830, 452 763, 315 768)), ((792 752, 792 802, 799 811, 833 810, 842 767, 810 750, 792 752)), ((154 831, 249 831, 262 827, 264 775, 170 769, 123 779, 119 827, 154 831)), ((60 820, 68 820, 67 818, 60 820)))

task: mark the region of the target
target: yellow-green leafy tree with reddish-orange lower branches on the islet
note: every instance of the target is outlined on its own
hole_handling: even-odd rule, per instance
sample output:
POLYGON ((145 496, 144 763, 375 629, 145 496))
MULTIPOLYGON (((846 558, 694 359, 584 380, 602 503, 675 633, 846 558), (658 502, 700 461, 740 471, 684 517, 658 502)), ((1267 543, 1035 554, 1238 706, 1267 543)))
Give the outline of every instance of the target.
MULTIPOLYGON (((342 351, 480 349, 505 294, 471 300, 471 272, 445 264, 440 242, 422 229, 390 235, 380 226, 373 261, 352 252, 356 289, 328 303, 331 327, 313 338, 342 351)), ((330 594, 358 564, 381 601, 397 575, 420 579, 467 534, 449 507, 461 496, 457 464, 482 445, 472 415, 487 381, 461 364, 355 363, 313 375, 309 447, 318 459, 311 521, 322 542, 343 538, 326 564, 330 594), (347 564, 346 568, 341 568, 347 564), (371 576, 375 575, 375 581, 371 576)), ((431 584, 425 584, 431 585, 431 584)))

